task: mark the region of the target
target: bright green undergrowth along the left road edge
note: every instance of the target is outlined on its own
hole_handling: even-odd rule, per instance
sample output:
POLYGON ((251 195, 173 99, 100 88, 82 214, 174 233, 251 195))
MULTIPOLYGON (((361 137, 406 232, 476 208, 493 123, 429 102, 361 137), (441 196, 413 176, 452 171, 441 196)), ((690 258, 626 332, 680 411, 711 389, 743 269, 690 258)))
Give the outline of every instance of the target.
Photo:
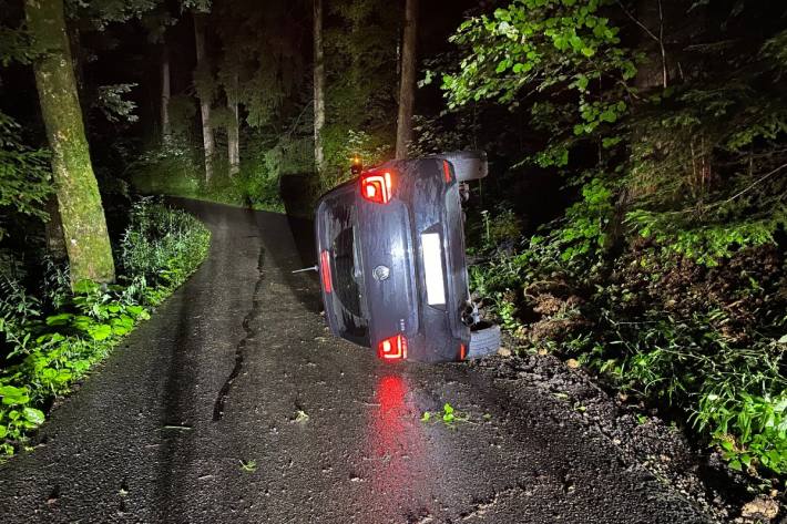
POLYGON ((133 205, 116 246, 117 282, 82 280, 48 264, 41 290, 0 274, 0 455, 13 454, 67 393, 151 308, 200 266, 211 234, 196 218, 150 198, 133 205))

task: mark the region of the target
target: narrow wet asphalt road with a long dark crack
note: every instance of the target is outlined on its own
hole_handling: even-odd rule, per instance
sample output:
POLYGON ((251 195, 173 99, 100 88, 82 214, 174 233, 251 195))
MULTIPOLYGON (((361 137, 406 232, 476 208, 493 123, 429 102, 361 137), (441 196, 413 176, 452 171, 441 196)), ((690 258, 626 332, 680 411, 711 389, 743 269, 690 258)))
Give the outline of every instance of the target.
POLYGON ((333 338, 308 224, 183 205, 209 258, 0 466, 0 523, 708 521, 536 388, 333 338))

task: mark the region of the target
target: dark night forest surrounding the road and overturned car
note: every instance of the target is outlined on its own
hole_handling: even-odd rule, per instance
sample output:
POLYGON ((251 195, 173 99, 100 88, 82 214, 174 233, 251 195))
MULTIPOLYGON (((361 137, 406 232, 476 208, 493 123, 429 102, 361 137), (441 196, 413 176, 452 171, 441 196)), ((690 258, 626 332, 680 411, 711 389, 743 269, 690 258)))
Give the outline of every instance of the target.
POLYGON ((785 82, 779 1, 0 0, 0 453, 205 258, 164 198, 309 217, 352 158, 483 150, 507 347, 784 494, 785 82))

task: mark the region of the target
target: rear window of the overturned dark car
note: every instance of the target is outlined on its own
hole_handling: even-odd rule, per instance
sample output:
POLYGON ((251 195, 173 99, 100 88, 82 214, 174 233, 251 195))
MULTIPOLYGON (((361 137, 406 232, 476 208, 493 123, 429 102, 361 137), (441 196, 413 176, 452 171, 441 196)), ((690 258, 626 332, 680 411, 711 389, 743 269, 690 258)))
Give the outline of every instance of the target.
POLYGON ((364 273, 360 264, 356 209, 350 194, 327 203, 326 237, 330 243, 330 275, 334 287, 334 310, 343 338, 369 346, 368 309, 364 297, 364 273))

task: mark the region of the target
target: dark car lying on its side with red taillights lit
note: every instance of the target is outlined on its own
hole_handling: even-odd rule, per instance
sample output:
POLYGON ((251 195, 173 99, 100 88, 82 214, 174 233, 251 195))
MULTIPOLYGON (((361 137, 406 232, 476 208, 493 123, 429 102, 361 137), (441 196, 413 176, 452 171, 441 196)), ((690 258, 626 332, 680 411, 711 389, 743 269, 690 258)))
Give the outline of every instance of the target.
POLYGON ((446 362, 495 351, 472 329, 460 186, 487 175, 483 153, 391 161, 317 205, 325 315, 331 331, 385 360, 446 362))

